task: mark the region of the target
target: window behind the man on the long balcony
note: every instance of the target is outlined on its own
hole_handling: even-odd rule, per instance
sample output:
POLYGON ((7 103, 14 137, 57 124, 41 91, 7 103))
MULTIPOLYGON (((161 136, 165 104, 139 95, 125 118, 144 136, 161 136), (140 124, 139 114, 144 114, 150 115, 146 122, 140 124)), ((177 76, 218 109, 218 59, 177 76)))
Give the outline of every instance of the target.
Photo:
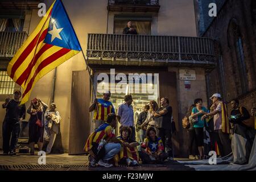
MULTIPOLYGON (((123 28, 127 27, 129 20, 115 20, 114 21, 114 34, 123 34, 123 28)), ((150 35, 151 34, 151 22, 150 21, 131 21, 133 27, 137 30, 138 35, 150 35)))

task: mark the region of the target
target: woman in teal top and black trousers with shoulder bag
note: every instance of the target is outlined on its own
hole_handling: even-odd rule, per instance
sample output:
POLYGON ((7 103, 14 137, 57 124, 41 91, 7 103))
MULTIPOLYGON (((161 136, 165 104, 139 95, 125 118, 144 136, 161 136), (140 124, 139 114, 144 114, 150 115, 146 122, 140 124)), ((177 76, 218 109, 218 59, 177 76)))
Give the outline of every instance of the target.
POLYGON ((191 117, 195 119, 194 128, 196 133, 196 143, 197 148, 199 150, 200 159, 204 158, 203 154, 203 146, 204 146, 204 120, 201 120, 201 117, 204 114, 207 114, 207 109, 202 106, 203 100, 201 98, 197 98, 194 101, 196 107, 192 109, 191 117))

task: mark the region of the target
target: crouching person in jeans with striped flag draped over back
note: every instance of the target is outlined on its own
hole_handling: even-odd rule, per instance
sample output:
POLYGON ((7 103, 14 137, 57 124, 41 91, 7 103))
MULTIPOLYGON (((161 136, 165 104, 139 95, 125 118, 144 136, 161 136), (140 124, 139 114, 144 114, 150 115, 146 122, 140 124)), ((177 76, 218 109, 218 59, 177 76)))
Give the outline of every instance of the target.
MULTIPOLYGON (((90 134, 85 144, 84 150, 89 153, 89 162, 91 167, 96 164, 104 167, 112 167, 109 163, 121 150, 122 142, 115 137, 112 129, 117 126, 116 115, 108 114, 106 122, 99 126, 90 134)), ((124 143, 126 146, 129 144, 124 143)))

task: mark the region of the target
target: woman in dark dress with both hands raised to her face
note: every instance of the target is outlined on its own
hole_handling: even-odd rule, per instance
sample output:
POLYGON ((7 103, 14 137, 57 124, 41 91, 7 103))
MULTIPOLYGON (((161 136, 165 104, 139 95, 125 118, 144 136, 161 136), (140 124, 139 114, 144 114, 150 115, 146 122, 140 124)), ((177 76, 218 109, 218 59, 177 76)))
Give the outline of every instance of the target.
POLYGON ((35 153, 35 143, 38 144, 38 150, 42 151, 44 138, 44 113, 47 108, 48 106, 44 102, 34 98, 31 101, 30 107, 27 109, 27 113, 30 114, 28 129, 30 155, 34 155, 35 153))

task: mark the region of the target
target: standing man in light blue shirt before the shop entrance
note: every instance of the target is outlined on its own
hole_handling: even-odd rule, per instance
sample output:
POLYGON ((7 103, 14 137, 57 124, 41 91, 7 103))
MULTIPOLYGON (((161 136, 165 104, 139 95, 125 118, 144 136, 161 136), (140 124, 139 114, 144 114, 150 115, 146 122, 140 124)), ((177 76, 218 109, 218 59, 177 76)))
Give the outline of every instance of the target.
POLYGON ((125 103, 118 106, 117 109, 117 121, 121 124, 121 127, 126 126, 131 128, 131 139, 135 140, 135 127, 133 118, 133 97, 131 95, 125 96, 125 103))

